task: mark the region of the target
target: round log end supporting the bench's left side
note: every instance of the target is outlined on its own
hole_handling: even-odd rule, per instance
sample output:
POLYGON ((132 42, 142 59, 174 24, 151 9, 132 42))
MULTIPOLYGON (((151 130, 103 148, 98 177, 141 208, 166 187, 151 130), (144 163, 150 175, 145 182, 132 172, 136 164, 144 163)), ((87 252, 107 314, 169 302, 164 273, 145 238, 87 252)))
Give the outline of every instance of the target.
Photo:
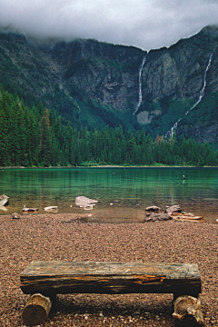
POLYGON ((39 325, 47 319, 52 308, 52 302, 49 297, 37 293, 30 297, 25 304, 22 312, 23 322, 27 326, 39 325))

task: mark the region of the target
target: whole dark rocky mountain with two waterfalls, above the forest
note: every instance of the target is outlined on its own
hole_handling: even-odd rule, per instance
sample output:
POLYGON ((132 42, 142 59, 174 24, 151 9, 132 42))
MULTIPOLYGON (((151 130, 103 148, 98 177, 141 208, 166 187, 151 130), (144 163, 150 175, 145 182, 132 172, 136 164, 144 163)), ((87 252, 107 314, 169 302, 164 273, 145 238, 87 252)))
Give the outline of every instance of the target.
POLYGON ((149 53, 0 33, 0 84, 73 126, 218 140, 218 27, 149 53), (172 130, 173 128, 173 130, 172 130))

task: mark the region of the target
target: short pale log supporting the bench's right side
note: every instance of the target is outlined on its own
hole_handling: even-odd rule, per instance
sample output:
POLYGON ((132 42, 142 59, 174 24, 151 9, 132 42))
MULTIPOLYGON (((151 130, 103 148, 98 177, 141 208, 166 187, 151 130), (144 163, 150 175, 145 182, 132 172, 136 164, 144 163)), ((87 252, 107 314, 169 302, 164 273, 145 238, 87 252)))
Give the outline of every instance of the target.
POLYGON ((194 322, 203 323, 203 310, 200 299, 190 295, 183 295, 176 298, 173 302, 173 317, 183 321, 185 317, 190 317, 194 322))

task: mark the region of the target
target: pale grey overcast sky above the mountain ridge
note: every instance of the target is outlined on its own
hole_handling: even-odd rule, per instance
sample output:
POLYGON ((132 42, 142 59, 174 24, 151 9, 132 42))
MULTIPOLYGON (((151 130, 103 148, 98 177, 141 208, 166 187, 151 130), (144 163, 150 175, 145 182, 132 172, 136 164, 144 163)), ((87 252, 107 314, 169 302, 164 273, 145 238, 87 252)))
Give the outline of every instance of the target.
POLYGON ((144 50, 172 45, 205 25, 218 25, 218 0, 0 0, 0 26, 144 50))

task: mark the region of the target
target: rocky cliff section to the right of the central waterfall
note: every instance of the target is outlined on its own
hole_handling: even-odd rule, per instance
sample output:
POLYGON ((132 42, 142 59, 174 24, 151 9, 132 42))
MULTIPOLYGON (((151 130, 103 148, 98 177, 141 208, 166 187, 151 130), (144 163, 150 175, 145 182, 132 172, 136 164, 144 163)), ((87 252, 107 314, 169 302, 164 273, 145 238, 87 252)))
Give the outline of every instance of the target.
POLYGON ((217 29, 207 27, 169 49, 148 54, 143 72, 144 101, 138 112, 142 123, 155 130, 158 125, 159 133, 164 134, 178 122, 178 134, 214 139, 214 131, 213 137, 203 128, 201 133, 197 131, 217 111, 217 41, 217 29))

